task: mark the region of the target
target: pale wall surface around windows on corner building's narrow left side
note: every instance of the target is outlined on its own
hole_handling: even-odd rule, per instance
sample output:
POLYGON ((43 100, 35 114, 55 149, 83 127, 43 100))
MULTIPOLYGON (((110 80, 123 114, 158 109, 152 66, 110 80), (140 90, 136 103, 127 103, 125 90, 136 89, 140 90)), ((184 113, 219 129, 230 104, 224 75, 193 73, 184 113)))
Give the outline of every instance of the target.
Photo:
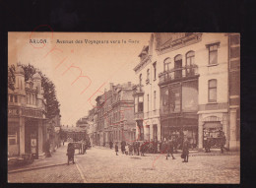
MULTIPOLYGON (((144 129, 144 140, 153 141, 154 139, 154 125, 158 127, 157 139, 160 140, 160 87, 159 87, 159 73, 160 73, 160 62, 157 52, 155 50, 156 42, 155 35, 152 34, 150 42, 149 42, 149 56, 151 56, 150 60, 142 66, 142 68, 135 70, 135 74, 137 77, 137 81, 140 83, 140 75, 142 75, 142 85, 144 90, 144 118, 143 121, 143 129, 144 129), (154 64, 156 63, 156 78, 155 78, 155 69, 154 64), (148 78, 148 70, 150 72, 150 76, 148 78), (149 79, 149 80, 148 80, 149 79), (156 101, 155 100, 155 92, 156 92, 156 101), (149 95, 149 100, 148 100, 149 95), (154 104, 156 104, 154 106, 154 104)), ((136 138, 140 135, 138 125, 136 128, 136 138)))

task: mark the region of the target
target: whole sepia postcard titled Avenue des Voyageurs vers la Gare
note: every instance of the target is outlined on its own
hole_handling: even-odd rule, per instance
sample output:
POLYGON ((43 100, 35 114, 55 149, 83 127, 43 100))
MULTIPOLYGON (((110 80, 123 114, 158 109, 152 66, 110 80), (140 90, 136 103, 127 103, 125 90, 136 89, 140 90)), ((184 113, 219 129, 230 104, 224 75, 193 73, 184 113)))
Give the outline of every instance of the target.
POLYGON ((9 183, 240 183, 240 34, 8 32, 9 183))

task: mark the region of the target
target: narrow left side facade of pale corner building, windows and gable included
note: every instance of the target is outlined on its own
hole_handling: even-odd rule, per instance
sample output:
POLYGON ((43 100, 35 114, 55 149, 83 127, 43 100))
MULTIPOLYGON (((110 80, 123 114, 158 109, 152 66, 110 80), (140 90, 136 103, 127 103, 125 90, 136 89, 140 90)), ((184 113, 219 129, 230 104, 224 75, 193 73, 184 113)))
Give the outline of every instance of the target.
POLYGON ((155 35, 139 54, 140 62, 134 68, 138 85, 134 86, 134 116, 136 138, 140 141, 160 141, 160 87, 155 35))

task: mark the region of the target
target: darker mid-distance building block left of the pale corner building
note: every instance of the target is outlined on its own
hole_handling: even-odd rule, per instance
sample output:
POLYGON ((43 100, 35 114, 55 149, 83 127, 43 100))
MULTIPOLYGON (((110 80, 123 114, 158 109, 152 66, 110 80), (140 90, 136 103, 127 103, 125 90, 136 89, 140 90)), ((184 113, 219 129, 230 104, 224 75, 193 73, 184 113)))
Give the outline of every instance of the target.
POLYGON ((96 145, 132 142, 135 138, 133 85, 110 84, 110 89, 96 97, 96 145))

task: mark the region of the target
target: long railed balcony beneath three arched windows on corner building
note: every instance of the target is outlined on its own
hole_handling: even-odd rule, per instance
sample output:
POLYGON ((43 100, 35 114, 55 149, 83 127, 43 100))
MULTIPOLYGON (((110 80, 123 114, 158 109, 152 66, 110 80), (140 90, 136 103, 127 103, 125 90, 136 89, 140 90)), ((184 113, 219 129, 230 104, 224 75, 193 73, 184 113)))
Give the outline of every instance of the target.
POLYGON ((198 77, 198 66, 190 65, 181 68, 174 68, 168 71, 160 73, 160 83, 159 85, 165 85, 169 83, 174 83, 182 80, 192 79, 198 77))

